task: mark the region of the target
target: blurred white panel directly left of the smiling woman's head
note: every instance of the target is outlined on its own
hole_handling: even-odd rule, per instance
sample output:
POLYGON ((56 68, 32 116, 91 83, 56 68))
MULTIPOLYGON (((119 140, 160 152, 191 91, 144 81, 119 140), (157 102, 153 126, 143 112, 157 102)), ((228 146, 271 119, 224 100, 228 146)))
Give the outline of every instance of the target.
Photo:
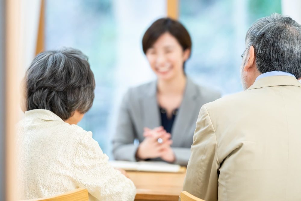
POLYGON ((147 28, 160 17, 166 17, 166 0, 114 0, 114 14, 117 22, 117 61, 110 126, 113 133, 120 101, 125 91, 155 79, 142 51, 142 37, 147 28))

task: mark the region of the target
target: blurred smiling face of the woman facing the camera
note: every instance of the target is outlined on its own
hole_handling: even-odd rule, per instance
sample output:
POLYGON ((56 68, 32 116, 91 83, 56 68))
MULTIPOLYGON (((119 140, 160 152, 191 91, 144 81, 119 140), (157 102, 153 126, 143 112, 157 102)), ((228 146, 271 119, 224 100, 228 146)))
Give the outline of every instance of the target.
POLYGON ((170 33, 163 33, 146 52, 146 57, 158 79, 171 80, 184 74, 183 63, 190 50, 183 51, 177 39, 170 33))

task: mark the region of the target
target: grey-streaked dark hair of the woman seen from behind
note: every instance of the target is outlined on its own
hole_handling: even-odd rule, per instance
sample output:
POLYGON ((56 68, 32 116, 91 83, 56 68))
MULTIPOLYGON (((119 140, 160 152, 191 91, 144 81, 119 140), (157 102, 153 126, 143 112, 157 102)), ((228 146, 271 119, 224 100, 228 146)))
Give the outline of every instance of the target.
POLYGON ((45 51, 26 71, 26 110, 46 109, 62 120, 77 110, 87 112, 94 99, 95 80, 88 57, 73 48, 45 51))

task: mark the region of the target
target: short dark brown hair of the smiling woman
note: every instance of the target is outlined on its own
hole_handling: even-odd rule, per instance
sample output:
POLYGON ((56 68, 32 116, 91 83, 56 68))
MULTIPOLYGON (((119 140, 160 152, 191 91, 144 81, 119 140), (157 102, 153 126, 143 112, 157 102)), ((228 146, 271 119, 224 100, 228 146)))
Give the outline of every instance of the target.
POLYGON ((144 54, 146 54, 147 50, 166 32, 177 39, 182 46, 183 51, 186 49, 191 50, 191 38, 186 28, 177 20, 166 17, 156 20, 144 33, 142 38, 142 49, 144 54))

